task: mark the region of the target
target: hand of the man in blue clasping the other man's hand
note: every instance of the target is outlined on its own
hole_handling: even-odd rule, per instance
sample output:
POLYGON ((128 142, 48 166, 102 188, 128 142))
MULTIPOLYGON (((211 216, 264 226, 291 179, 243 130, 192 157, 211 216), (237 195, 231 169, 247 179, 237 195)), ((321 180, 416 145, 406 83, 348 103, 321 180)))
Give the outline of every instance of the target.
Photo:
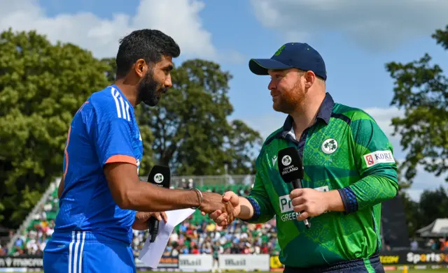
POLYGON ((239 211, 235 209, 234 205, 238 206, 238 196, 235 198, 224 199, 223 195, 218 193, 202 193, 204 200, 202 201, 200 210, 202 215, 219 212, 222 219, 225 219, 223 223, 232 223, 235 217, 239 214, 239 211))

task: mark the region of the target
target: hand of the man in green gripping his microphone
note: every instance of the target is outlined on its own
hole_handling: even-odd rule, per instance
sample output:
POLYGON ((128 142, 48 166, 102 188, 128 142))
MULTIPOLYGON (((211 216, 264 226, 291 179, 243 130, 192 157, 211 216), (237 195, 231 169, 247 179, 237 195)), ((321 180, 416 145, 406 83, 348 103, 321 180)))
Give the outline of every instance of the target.
MULTIPOLYGON (((328 193, 328 192, 327 192, 328 193)), ((295 189, 289 195, 294 212, 300 212, 297 220, 319 216, 329 209, 328 195, 315 189, 295 189)))

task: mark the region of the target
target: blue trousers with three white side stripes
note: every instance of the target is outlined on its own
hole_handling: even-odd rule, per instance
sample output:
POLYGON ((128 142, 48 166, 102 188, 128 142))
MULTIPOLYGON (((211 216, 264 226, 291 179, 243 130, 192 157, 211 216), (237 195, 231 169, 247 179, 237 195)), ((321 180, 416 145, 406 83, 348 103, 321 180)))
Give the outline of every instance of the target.
POLYGON ((129 244, 73 231, 53 235, 43 251, 45 273, 136 273, 129 244))

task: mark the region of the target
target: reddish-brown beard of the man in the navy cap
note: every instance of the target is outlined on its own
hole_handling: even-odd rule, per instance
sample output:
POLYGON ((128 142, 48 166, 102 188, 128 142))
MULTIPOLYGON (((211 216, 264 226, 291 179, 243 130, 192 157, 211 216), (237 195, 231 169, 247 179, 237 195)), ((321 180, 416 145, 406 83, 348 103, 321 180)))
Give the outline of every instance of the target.
POLYGON ((305 91, 301 82, 294 84, 293 89, 289 91, 281 91, 274 99, 272 108, 277 112, 290 114, 300 108, 305 99, 305 91))

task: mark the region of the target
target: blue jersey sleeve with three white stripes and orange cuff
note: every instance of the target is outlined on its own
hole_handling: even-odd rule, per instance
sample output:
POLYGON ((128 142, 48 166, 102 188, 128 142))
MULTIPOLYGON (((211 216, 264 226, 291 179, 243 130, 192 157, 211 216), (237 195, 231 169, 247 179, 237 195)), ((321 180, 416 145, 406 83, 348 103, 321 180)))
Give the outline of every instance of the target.
POLYGON ((118 162, 137 165, 132 145, 132 119, 127 118, 130 105, 123 98, 120 101, 119 96, 102 95, 92 98, 90 121, 90 136, 99 162, 102 166, 118 162))

